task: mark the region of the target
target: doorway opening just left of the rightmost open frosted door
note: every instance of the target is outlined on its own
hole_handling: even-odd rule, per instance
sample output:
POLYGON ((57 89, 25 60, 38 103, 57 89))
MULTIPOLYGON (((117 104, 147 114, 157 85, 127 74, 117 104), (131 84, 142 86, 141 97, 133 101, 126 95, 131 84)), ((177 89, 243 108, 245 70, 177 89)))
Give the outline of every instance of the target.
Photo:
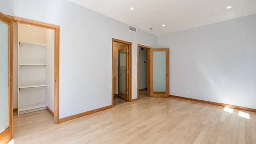
POLYGON ((137 98, 150 96, 150 48, 137 46, 137 98))

